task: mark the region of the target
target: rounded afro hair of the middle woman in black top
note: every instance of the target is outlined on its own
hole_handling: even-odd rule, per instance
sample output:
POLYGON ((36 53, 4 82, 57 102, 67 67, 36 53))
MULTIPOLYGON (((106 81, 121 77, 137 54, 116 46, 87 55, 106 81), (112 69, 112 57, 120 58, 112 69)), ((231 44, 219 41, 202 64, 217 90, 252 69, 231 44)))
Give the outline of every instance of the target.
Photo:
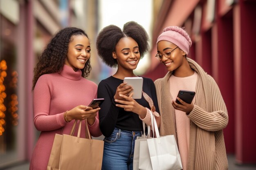
POLYGON ((138 43, 141 58, 148 51, 148 34, 137 22, 127 22, 124 24, 123 31, 115 25, 106 26, 97 36, 96 47, 99 57, 108 66, 117 66, 117 60, 112 57, 112 52, 115 51, 119 40, 124 37, 130 37, 138 43))

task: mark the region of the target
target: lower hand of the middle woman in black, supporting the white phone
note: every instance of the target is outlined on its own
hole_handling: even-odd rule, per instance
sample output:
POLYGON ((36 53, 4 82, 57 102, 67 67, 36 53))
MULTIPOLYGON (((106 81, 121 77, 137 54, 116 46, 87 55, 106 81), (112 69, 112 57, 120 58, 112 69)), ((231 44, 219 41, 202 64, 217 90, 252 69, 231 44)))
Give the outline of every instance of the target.
POLYGON ((126 95, 119 95, 120 97, 124 98, 125 100, 118 100, 115 99, 115 102, 119 103, 116 104, 117 107, 124 108, 125 111, 134 112, 139 115, 142 119, 146 116, 147 110, 145 107, 138 104, 135 99, 132 99, 132 93, 129 96, 126 95))

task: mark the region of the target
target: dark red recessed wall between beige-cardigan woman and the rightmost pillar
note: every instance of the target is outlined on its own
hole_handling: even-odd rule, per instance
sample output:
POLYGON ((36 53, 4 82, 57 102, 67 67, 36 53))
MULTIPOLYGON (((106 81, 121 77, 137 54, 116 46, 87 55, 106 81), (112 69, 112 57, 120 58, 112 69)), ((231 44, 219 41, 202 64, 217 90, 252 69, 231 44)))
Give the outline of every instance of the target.
MULTIPOLYGON (((217 10, 221 8, 216 4, 217 10)), ((223 130, 227 153, 234 153, 234 49, 232 10, 225 15, 216 13, 212 29, 212 69, 227 106, 229 124, 223 130)))

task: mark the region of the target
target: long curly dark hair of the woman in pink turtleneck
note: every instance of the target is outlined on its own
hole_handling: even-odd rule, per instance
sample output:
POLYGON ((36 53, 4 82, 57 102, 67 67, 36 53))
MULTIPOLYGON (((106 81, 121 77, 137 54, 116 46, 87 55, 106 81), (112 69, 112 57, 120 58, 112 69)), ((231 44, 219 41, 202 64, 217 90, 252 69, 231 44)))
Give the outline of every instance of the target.
MULTIPOLYGON (((42 55, 38 57, 38 63, 34 68, 32 90, 34 90, 36 82, 41 75, 61 72, 67 57, 68 45, 72 41, 72 35, 85 35, 88 38, 88 35, 83 30, 75 27, 66 27, 58 31, 42 55)), ((85 63, 85 67, 81 69, 82 77, 88 77, 91 70, 89 59, 85 63)))

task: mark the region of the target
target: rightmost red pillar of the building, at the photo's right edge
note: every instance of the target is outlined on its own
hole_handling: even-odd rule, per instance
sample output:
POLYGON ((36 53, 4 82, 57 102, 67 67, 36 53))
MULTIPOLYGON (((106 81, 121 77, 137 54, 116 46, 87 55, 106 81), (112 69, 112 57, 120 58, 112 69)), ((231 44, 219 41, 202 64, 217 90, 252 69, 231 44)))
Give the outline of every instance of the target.
POLYGON ((256 162, 255 16, 256 1, 240 0, 234 7, 235 135, 239 163, 256 162))

